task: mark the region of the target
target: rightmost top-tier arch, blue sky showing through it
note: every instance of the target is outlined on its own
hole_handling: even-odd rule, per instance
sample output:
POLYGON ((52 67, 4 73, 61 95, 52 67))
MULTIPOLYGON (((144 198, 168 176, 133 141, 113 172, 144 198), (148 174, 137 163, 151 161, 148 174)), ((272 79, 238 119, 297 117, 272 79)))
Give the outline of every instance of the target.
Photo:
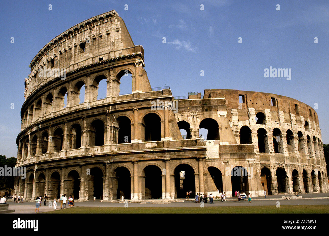
MULTIPOLYGON (((130 70, 121 70, 114 83, 114 96, 130 94, 133 91, 133 77, 130 70)), ((136 90, 136 89, 135 89, 136 90)))

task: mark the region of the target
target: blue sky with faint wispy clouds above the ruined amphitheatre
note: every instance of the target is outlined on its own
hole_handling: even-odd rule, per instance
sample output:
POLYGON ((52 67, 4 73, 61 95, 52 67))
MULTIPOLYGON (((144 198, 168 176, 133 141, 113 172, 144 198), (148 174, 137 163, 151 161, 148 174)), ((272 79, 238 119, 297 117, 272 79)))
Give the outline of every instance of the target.
POLYGON ((328 1, 2 1, 0 154, 17 155, 24 78, 38 51, 75 24, 113 9, 134 44, 144 47, 152 87, 170 86, 174 96, 226 88, 317 103, 322 141, 329 143, 328 1), (291 80, 264 78, 270 66, 291 68, 291 80))

